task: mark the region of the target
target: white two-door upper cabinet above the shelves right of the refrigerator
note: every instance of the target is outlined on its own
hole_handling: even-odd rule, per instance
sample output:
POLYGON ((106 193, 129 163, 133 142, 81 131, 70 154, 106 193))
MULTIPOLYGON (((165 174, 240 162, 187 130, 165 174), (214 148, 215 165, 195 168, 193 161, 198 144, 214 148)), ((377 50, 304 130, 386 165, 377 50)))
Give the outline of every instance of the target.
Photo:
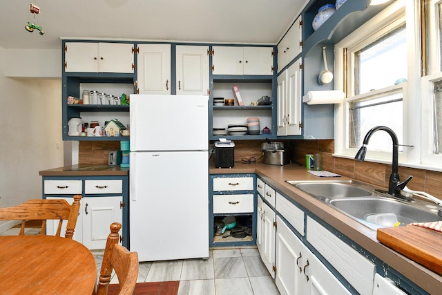
POLYGON ((272 47, 213 46, 213 75, 273 75, 272 47))

